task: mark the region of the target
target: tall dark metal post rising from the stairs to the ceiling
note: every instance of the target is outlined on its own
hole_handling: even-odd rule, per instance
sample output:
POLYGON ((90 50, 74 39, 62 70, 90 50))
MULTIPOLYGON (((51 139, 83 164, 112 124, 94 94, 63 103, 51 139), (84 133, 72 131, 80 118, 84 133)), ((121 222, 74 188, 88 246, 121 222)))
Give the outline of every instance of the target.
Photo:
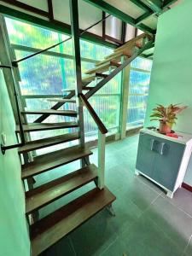
MULTIPOLYGON (((80 42, 79 42, 79 10, 78 0, 70 0, 70 17, 73 40, 73 55, 74 69, 76 78, 76 100, 79 112, 79 136, 80 145, 84 148, 84 112, 83 102, 79 100, 79 94, 82 93, 82 78, 81 78, 81 59, 80 59, 80 42)), ((81 166, 85 166, 85 161, 82 160, 81 166)))

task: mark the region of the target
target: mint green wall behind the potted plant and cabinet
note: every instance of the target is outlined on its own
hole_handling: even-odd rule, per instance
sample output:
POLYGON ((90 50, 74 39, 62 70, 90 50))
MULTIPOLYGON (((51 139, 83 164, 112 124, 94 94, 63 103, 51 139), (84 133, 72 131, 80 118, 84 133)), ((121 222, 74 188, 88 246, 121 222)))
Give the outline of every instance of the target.
MULTIPOLYGON (((156 103, 183 103, 189 108, 178 115, 176 131, 192 133, 192 1, 183 0, 160 15, 145 126, 156 103)), ((191 161, 192 162, 192 161, 191 161)), ((185 182, 192 185, 192 165, 185 182)))

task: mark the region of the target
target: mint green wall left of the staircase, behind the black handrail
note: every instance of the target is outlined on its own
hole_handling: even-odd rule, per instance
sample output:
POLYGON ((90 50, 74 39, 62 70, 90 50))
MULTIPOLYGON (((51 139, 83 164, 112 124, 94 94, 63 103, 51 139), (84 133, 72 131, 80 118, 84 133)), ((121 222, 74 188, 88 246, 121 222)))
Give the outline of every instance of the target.
MULTIPOLYGON (((15 120, 0 70, 0 135, 16 143, 15 120)), ((0 152, 0 256, 29 256, 30 242, 25 217, 25 198, 17 149, 0 152)))

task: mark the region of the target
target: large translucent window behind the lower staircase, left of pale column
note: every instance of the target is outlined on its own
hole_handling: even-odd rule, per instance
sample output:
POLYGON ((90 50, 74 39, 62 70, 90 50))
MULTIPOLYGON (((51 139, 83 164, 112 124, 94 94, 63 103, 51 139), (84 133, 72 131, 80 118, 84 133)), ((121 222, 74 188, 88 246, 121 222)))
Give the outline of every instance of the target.
MULTIPOLYGON (((61 33, 9 18, 6 18, 6 25, 10 44, 14 49, 17 60, 26 55, 31 55, 38 49, 44 49, 68 38, 61 33)), ((84 40, 80 41, 80 50, 82 73, 94 67, 97 61, 102 61, 105 55, 113 52, 113 49, 84 40)), ((21 61, 19 71, 20 94, 26 109, 51 108, 55 102, 49 102, 47 99, 49 96, 61 96, 62 89, 74 89, 75 86, 72 40, 50 49, 44 54, 21 61)), ((121 75, 119 73, 102 90, 99 90, 90 98, 91 105, 107 126, 109 132, 116 132, 119 127, 120 80, 121 75)), ((73 108, 74 104, 69 103, 60 109, 73 108)), ((37 118, 37 115, 27 115, 28 122, 33 122, 37 118)), ((73 120, 74 118, 52 115, 45 119, 44 122, 73 120)), ((95 122, 86 109, 84 110, 84 126, 85 139, 96 138, 97 129, 95 122)), ((32 132, 31 137, 38 139, 39 137, 55 136, 68 131, 75 131, 75 129, 32 132)))

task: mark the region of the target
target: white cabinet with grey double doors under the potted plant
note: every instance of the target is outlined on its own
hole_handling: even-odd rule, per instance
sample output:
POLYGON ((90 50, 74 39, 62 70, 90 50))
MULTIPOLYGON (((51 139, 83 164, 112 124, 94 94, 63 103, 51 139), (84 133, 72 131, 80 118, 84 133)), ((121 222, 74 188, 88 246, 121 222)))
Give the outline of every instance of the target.
POLYGON ((137 150, 136 174, 143 174, 166 189, 167 196, 183 183, 192 150, 192 135, 178 132, 178 138, 142 129, 137 150))

